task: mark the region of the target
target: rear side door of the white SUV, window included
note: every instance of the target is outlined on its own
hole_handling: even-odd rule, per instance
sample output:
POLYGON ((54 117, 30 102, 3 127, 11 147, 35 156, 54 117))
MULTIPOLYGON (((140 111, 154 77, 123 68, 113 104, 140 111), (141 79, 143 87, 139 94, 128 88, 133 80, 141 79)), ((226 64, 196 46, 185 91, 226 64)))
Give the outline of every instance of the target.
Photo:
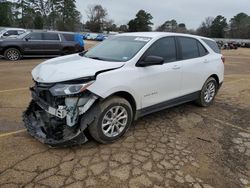
POLYGON ((199 40, 177 37, 182 58, 181 95, 201 90, 209 75, 208 51, 199 40))

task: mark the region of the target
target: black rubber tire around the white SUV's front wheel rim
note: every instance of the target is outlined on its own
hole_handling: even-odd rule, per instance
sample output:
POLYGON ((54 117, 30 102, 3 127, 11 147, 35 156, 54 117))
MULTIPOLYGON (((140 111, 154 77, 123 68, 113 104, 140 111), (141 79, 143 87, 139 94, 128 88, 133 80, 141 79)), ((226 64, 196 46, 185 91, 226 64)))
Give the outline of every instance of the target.
MULTIPOLYGON (((112 142, 118 140, 119 138, 121 138, 129 129, 129 127, 132 123, 132 120, 133 120, 132 107, 129 104, 129 102, 127 100, 125 100, 124 98, 114 96, 114 97, 108 98, 107 100, 105 100, 103 102, 100 102, 100 108, 101 108, 100 114, 97 115, 97 118, 88 127, 89 133, 99 143, 102 143, 102 144, 112 143, 112 142), (119 106, 121 107, 122 110, 125 110, 127 113, 126 125, 124 126, 123 130, 120 131, 120 133, 118 135, 114 135, 111 137, 107 136, 104 134, 105 130, 102 128, 103 121, 106 120, 106 119, 104 119, 104 117, 107 117, 106 115, 108 115, 108 113, 111 113, 110 111, 112 111, 116 107, 118 108, 119 106)), ((121 111, 120 111, 120 113, 121 113, 121 111)), ((108 128, 110 126, 112 126, 112 125, 111 124, 107 125, 108 128)), ((116 127, 116 126, 114 126, 114 127, 116 127)), ((107 130, 108 130, 108 128, 107 128, 107 130)), ((117 127, 115 129, 116 129, 116 131, 118 131, 117 127)), ((106 134, 109 134, 109 133, 106 133, 106 134)))

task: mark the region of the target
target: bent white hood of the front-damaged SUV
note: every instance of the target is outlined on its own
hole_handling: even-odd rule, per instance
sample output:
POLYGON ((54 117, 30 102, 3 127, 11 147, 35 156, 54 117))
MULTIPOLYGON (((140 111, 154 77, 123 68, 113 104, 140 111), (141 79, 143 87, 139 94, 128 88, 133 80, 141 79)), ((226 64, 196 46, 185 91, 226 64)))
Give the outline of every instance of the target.
POLYGON ((94 76, 99 71, 120 68, 124 62, 108 62, 82 57, 79 54, 54 58, 32 70, 33 79, 41 83, 55 83, 94 76))

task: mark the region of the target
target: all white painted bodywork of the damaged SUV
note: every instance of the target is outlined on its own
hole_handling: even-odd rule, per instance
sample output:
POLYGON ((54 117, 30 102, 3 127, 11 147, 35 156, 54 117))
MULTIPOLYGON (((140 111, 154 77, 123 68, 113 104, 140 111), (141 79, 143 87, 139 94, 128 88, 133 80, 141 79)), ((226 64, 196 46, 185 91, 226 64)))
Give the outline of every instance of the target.
POLYGON ((88 90, 102 98, 119 91, 128 92, 134 97, 137 109, 199 91, 212 74, 218 75, 219 82, 224 79, 222 55, 213 52, 201 40, 204 37, 163 32, 124 33, 120 36, 152 39, 127 62, 106 62, 81 57, 78 54, 69 55, 48 60, 38 65, 32 71, 33 78, 44 83, 62 82, 93 76, 101 70, 118 68, 99 74, 96 81, 88 87, 88 90), (207 48, 209 54, 200 58, 163 65, 136 67, 136 63, 144 52, 156 40, 166 36, 195 38, 207 48))

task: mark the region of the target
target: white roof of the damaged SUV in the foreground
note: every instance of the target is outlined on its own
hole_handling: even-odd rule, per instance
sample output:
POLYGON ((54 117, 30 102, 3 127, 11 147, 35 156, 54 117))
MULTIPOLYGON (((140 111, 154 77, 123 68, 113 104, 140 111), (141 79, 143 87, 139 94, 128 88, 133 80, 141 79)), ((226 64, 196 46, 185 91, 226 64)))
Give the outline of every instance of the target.
POLYGON ((213 41, 213 39, 198 36, 198 35, 172 33, 172 32, 133 32, 133 33, 122 33, 118 35, 119 36, 134 36, 134 37, 150 37, 150 38, 159 38, 159 37, 167 37, 167 36, 183 36, 183 37, 192 37, 196 39, 207 39, 207 40, 213 41))

